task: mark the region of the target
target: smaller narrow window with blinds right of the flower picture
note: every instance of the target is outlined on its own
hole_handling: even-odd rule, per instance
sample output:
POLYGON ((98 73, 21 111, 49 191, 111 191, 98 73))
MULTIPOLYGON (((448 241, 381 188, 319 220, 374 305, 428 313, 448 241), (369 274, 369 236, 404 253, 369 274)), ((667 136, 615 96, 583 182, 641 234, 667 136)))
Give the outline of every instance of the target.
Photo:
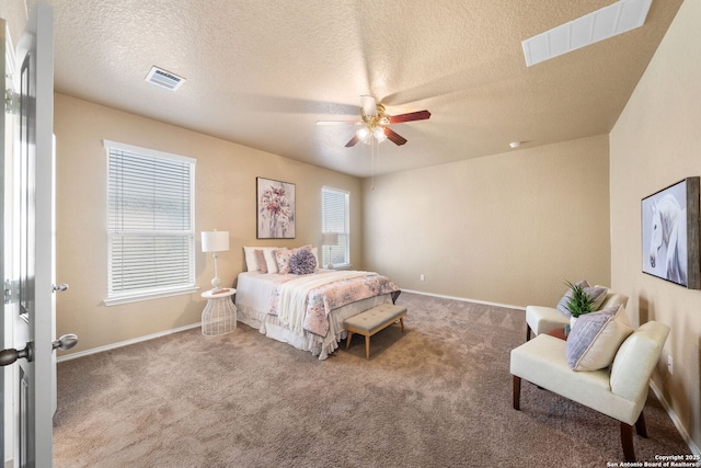
POLYGON ((338 235, 336 246, 322 246, 322 264, 348 266, 350 264, 348 216, 349 194, 337 189, 321 189, 321 231, 338 235))

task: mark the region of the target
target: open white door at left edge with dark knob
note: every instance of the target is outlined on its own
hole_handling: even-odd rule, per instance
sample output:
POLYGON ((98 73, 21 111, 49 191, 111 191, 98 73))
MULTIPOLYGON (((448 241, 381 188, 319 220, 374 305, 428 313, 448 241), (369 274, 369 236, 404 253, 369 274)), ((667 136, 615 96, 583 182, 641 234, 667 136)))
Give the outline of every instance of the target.
MULTIPOLYGON (((30 14, 16 47, 18 115, 13 135, 11 197, 13 269, 9 276, 13 311, 13 349, 2 352, 3 364, 16 359, 12 429, 14 466, 50 467, 56 392, 54 244, 54 25, 51 8, 39 3, 30 14), (16 278, 16 279, 15 279, 16 278), (12 290, 16 289, 16 290, 12 290)), ((5 158, 10 157, 5 155, 5 158)), ((5 174, 5 184, 8 176, 5 174)), ((7 191, 3 193, 7 195, 7 191)), ((7 204, 3 201, 3 206, 7 204)), ((7 213, 5 213, 7 215, 7 213)), ((9 252, 4 252, 5 255, 9 252)), ((5 271, 5 276, 8 272, 5 271)), ((5 306, 5 310, 8 306, 5 306)), ((5 383, 4 391, 9 391, 5 383)), ((5 457, 9 458, 9 457, 5 457)))

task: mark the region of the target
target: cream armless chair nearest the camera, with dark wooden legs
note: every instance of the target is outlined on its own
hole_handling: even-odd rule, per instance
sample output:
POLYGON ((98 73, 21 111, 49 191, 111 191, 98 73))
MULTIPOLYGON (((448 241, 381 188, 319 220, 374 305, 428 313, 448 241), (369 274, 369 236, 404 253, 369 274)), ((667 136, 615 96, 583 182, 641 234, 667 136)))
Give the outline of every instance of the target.
POLYGON ((632 427, 634 424, 637 434, 647 437, 643 407, 668 334, 669 327, 647 322, 623 341, 610 366, 584 372, 567 364, 566 341, 538 335, 512 351, 514 409, 520 409, 521 379, 589 407, 620 421, 623 455, 634 461, 632 427))

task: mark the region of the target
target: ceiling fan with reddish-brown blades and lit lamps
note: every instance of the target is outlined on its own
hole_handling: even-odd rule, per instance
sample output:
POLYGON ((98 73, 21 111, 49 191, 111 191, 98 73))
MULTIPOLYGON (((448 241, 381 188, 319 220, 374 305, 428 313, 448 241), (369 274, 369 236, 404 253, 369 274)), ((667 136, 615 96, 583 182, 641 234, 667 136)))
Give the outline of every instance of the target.
POLYGON ((320 121, 318 125, 343 125, 353 124, 361 125, 363 127, 356 132, 350 140, 345 145, 346 148, 355 146, 358 141, 369 145, 375 138, 378 142, 382 142, 389 139, 394 145, 401 146, 406 142, 406 138, 399 135, 397 132, 389 128, 389 125, 401 124, 404 122, 425 121, 430 117, 428 111, 416 111, 407 114, 400 115, 387 115, 384 114, 384 106, 378 104, 375 98, 369 95, 360 96, 360 121, 359 122, 343 122, 343 121, 320 121))

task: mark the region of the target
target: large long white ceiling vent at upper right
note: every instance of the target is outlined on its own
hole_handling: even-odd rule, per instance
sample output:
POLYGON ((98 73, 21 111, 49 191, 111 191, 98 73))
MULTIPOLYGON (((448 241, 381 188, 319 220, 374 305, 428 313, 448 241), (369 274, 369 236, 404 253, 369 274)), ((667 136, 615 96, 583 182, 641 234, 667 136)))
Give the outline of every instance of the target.
POLYGON ((558 57, 642 26, 653 0, 619 0, 521 42, 526 65, 558 57))

